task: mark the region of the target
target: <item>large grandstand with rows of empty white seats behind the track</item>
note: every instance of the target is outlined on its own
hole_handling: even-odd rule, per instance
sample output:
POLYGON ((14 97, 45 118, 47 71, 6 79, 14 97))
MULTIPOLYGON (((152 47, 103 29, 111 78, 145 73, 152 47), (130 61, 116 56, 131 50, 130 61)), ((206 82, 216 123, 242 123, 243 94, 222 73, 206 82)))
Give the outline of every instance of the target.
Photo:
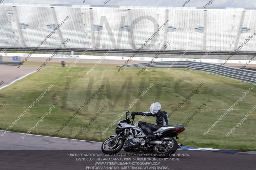
MULTIPOLYGON (((147 51, 158 51, 169 41, 167 51, 231 52, 256 30, 256 9, 196 7, 144 7, 96 5, 10 4, 0 6, 0 47, 31 49, 65 17, 69 19, 40 49, 58 48, 65 39, 67 50, 134 51, 155 32, 156 43, 147 51), (134 29, 131 25, 137 18, 134 29)), ((252 37, 239 52, 256 51, 252 37)))

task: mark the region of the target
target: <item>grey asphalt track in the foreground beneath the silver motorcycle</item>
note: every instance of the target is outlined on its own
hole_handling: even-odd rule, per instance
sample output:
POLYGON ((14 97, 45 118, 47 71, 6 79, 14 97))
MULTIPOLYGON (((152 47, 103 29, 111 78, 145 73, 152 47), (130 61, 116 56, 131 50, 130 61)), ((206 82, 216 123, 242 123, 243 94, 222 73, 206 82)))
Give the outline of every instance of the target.
MULTIPOLYGON (((2 134, 3 131, 0 131, 2 134)), ((1 170, 35 170, 35 169, 90 169, 86 166, 96 166, 92 160, 76 160, 76 158, 107 158, 108 156, 67 156, 72 153, 99 153, 101 152, 100 142, 72 140, 58 137, 46 137, 39 135, 28 135, 22 139, 22 133, 7 132, 0 136, 0 169, 1 170)), ((122 154, 128 152, 121 151, 122 154)), ((160 162, 161 167, 166 169, 255 169, 255 155, 234 154, 208 151, 177 150, 171 160, 142 160, 154 159, 149 156, 127 156, 119 155, 118 158, 139 158, 138 161, 125 162, 160 162), (179 155, 186 154, 186 155, 179 155), (189 154, 189 155, 188 155, 189 154)), ((111 158, 111 157, 109 157, 111 158)), ((115 157, 116 158, 116 157, 115 157)), ((168 158, 169 159, 169 158, 168 158)), ((101 161, 104 162, 104 161, 101 161)), ((106 161, 105 161, 106 162, 106 161)), ((120 162, 120 161, 108 161, 120 162)), ((124 162, 124 161, 121 161, 124 162)), ((139 165, 138 165, 139 167, 139 165)), ((145 166, 149 169, 150 166, 145 166)), ((131 169, 131 168, 126 168, 131 169)))

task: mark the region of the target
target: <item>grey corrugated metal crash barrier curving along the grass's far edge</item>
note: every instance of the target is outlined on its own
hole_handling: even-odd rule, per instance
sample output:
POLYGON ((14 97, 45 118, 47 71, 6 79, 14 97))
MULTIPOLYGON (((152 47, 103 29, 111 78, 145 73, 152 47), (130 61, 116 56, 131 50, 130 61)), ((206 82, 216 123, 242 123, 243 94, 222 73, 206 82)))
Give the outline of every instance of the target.
MULTIPOLYGON (((123 67, 144 67, 147 63, 138 63, 126 65, 123 67)), ((204 71, 207 73, 212 73, 228 78, 234 78, 236 80, 244 81, 247 83, 256 84, 256 71, 252 70, 241 70, 240 73, 237 73, 240 68, 234 68, 229 66, 222 66, 218 69, 219 64, 213 63, 202 63, 194 61, 168 61, 168 62, 154 62, 151 63, 148 67, 171 67, 179 69, 193 69, 198 71, 204 71)), ((121 67, 121 65, 117 66, 121 67)))

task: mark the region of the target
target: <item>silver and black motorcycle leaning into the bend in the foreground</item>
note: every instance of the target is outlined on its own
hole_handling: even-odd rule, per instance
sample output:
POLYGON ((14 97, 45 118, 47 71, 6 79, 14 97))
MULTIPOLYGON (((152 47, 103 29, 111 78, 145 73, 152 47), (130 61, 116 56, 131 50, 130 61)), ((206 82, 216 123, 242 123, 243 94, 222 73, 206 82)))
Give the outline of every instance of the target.
POLYGON ((131 116, 130 112, 127 111, 126 118, 116 125, 116 135, 110 136, 103 142, 101 146, 103 153, 115 154, 124 148, 125 152, 153 153, 157 157, 169 157, 182 146, 182 144, 177 143, 174 137, 179 139, 178 135, 185 130, 183 125, 169 125, 159 128, 153 132, 156 139, 148 139, 138 124, 133 124, 134 119, 135 116, 131 116), (128 115, 130 117, 127 118, 128 115))

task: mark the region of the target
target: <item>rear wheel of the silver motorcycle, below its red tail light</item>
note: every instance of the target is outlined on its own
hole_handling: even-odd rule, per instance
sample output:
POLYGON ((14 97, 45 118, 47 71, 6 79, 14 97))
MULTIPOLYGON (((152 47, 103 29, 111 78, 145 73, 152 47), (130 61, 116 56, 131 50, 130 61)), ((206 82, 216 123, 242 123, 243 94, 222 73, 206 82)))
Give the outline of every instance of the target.
MULTIPOLYGON (((170 139, 170 141, 168 140, 168 145, 165 148, 153 147, 152 150, 155 154, 157 154, 158 157, 167 158, 171 156, 171 154, 176 152, 176 150, 178 149, 178 143, 173 137, 163 137, 161 139, 170 139)), ((159 145, 159 144, 157 144, 156 146, 163 147, 162 145, 159 145)))

